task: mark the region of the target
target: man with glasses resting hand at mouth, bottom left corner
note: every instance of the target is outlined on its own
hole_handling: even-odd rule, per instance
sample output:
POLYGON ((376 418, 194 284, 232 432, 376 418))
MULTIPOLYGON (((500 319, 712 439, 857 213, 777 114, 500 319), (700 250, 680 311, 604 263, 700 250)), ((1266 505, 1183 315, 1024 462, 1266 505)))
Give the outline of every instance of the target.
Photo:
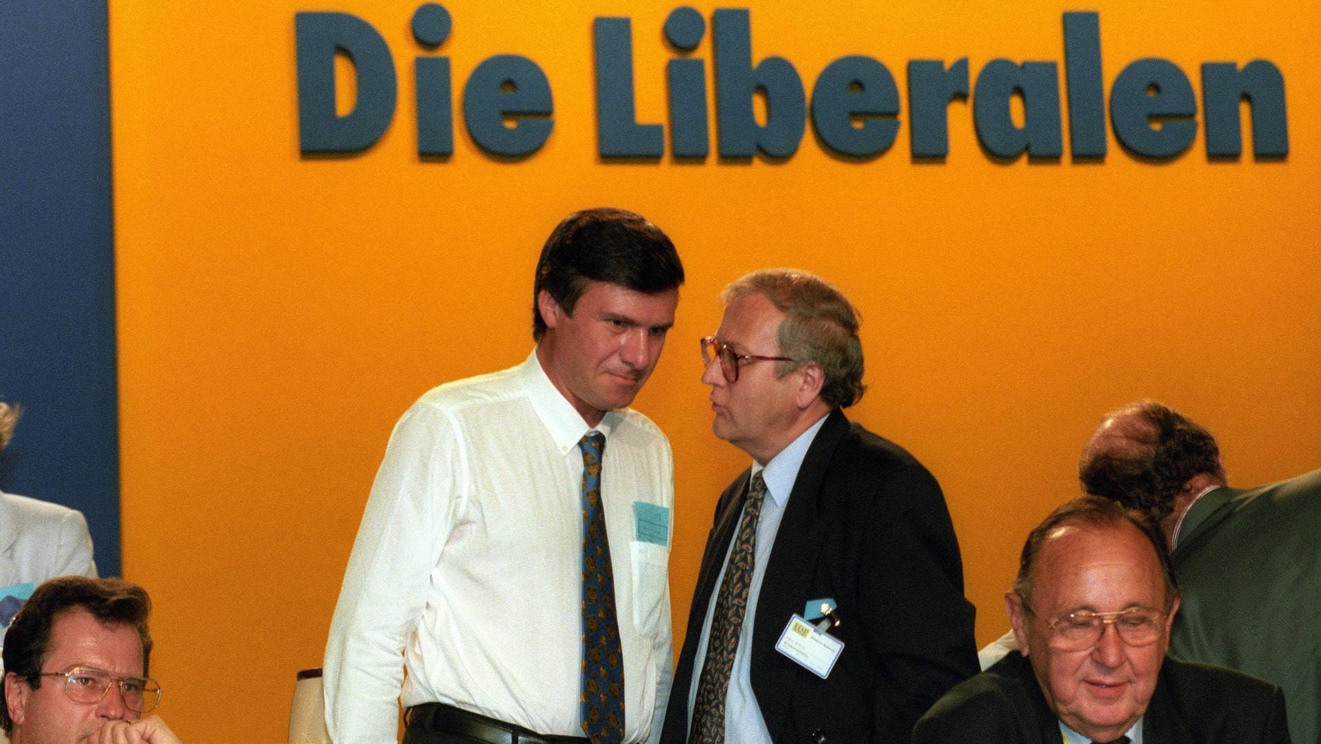
POLYGON ((4 636, 0 728, 12 744, 180 744, 147 677, 151 600, 119 579, 37 587, 4 636))

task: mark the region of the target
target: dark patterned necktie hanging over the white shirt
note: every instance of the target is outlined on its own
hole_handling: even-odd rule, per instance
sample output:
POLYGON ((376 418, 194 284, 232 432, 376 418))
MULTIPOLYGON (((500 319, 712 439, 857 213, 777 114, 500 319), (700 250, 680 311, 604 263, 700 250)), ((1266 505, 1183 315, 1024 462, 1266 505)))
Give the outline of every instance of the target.
POLYGON ((592 744, 624 741, 624 650, 614 614, 614 571, 601 503, 605 435, 589 431, 583 451, 583 681, 579 720, 592 744))

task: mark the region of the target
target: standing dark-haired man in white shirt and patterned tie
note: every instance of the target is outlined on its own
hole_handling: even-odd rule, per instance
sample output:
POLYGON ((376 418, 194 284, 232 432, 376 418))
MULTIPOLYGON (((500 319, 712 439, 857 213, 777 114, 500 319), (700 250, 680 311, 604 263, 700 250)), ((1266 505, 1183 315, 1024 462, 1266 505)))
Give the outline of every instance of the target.
POLYGON ((400 698, 407 744, 658 737, 672 456, 626 406, 682 283, 655 225, 572 214, 538 262, 527 361, 399 420, 326 644, 333 741, 395 741, 400 698))

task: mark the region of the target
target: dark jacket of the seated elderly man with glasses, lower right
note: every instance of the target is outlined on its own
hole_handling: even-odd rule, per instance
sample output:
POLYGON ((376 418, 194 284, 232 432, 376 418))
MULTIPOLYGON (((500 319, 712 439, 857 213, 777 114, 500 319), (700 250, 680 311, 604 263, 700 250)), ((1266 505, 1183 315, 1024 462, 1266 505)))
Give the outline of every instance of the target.
MULTIPOLYGON (((1059 720, 1018 651, 951 690, 913 731, 913 744, 967 741, 1059 744, 1059 720)), ((1284 694, 1246 674, 1165 657, 1143 743, 1288 744, 1284 694)))

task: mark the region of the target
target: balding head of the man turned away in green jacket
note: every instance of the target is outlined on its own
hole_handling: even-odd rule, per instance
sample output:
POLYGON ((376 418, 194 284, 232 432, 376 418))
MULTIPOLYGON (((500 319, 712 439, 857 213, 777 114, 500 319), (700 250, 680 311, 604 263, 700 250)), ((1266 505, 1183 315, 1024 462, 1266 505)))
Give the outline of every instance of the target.
POLYGON ((1215 437, 1155 400, 1106 414, 1078 461, 1083 490, 1139 509, 1156 522, 1169 517, 1194 478, 1225 484, 1215 437))

